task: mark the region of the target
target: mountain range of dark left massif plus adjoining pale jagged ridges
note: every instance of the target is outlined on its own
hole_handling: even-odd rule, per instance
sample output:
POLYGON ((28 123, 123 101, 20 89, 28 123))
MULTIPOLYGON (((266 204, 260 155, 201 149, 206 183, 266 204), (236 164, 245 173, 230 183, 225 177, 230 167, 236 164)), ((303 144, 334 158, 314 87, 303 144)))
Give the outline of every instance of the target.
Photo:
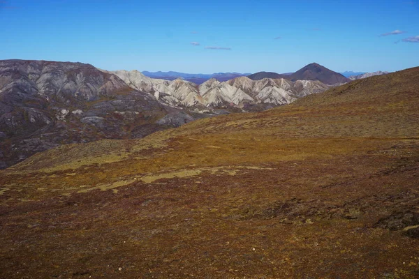
POLYGON ((61 144, 145 137, 200 118, 286 105, 329 87, 248 77, 198 85, 84 63, 0 61, 0 168, 61 144))

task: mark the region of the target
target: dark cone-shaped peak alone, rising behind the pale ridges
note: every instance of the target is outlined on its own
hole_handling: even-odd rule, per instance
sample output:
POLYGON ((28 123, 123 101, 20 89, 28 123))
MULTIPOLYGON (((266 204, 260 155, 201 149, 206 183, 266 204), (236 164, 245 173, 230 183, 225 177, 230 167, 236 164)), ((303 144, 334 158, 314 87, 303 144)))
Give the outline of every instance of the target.
POLYGON ((343 75, 329 70, 318 63, 311 63, 304 66, 286 78, 293 82, 296 80, 318 80, 324 84, 344 84, 346 82, 351 82, 351 80, 343 75))

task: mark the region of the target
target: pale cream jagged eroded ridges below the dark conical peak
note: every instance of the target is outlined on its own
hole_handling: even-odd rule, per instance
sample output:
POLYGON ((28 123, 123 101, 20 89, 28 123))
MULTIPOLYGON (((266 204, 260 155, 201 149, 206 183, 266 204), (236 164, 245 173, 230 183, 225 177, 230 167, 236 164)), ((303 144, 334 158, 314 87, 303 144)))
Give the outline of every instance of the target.
POLYGON ((182 79, 152 79, 137 70, 117 70, 112 73, 133 89, 150 93, 164 104, 193 107, 196 111, 232 107, 244 111, 265 110, 277 105, 287 105, 297 98, 329 88, 321 82, 307 80, 291 82, 265 78, 253 81, 249 77, 236 77, 227 82, 212 78, 198 86, 182 79))

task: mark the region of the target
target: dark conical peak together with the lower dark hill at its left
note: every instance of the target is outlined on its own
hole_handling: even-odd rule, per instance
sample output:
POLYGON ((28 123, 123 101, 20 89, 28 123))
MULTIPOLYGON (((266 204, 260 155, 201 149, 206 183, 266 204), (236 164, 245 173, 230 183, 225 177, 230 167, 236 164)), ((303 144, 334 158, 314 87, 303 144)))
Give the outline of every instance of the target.
POLYGON ((336 73, 328 68, 325 68, 318 63, 311 63, 295 73, 278 74, 272 72, 259 72, 248 76, 251 80, 263 80, 264 78, 279 79, 283 78, 295 82, 297 80, 318 80, 324 84, 344 84, 351 82, 351 80, 336 73))

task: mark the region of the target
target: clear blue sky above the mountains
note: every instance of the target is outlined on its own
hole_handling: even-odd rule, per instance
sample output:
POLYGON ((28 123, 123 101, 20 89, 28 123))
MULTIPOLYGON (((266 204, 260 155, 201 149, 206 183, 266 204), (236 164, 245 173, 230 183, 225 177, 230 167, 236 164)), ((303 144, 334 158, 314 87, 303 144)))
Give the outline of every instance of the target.
POLYGON ((106 70, 394 71, 419 66, 419 1, 0 0, 0 38, 0 59, 106 70))

